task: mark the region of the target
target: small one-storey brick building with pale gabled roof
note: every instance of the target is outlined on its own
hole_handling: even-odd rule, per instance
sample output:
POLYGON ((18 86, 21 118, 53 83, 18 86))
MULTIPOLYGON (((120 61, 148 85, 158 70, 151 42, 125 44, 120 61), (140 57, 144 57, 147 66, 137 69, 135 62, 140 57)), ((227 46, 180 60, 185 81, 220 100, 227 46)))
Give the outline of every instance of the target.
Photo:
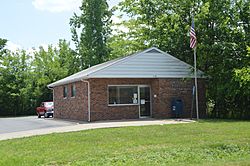
MULTIPOLYGON (((205 80, 198 70, 199 114, 206 116, 205 80)), ((48 85, 54 117, 83 121, 190 118, 192 66, 152 47, 102 63, 48 85), (181 103, 178 114, 173 102, 181 103)))

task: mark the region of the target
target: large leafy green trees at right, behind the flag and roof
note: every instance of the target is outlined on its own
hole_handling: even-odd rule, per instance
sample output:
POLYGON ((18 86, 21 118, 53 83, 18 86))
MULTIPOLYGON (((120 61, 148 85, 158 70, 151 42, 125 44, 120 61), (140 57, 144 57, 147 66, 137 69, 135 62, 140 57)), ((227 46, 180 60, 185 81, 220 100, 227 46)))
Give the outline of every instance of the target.
POLYGON ((125 0, 118 10, 129 17, 122 23, 128 33, 113 37, 113 50, 132 42, 133 50, 157 46, 189 64, 193 64, 193 52, 188 33, 194 14, 198 68, 209 75, 211 115, 250 118, 249 86, 243 87, 249 77, 250 1, 125 0))

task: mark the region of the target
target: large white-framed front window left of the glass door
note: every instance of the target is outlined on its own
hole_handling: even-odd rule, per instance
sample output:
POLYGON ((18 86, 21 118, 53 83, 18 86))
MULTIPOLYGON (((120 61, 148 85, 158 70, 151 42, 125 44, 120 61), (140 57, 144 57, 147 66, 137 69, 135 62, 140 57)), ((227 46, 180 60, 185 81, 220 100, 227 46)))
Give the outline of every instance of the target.
POLYGON ((109 105, 138 104, 137 86, 109 86, 109 105))

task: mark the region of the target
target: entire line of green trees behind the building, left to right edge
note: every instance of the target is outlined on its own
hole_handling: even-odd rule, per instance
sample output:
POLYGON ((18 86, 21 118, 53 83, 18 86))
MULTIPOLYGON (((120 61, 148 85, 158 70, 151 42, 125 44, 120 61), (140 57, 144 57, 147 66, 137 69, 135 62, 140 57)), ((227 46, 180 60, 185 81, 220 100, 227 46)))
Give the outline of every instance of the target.
POLYGON ((59 40, 58 47, 31 55, 6 50, 0 40, 0 116, 32 114, 52 99, 47 84, 151 46, 193 65, 188 33, 194 16, 209 115, 250 118, 250 1, 124 0, 109 9, 106 0, 83 0, 80 10, 69 21, 75 49, 59 40), (122 21, 113 23, 112 16, 122 21))

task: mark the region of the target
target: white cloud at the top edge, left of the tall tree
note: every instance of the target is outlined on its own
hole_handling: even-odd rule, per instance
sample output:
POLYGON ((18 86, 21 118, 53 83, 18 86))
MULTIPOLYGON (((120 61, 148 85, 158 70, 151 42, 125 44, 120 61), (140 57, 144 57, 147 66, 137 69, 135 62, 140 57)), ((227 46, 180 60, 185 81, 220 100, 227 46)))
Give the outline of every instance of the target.
POLYGON ((33 0, 32 4, 41 11, 60 13, 77 10, 81 5, 81 0, 33 0))

